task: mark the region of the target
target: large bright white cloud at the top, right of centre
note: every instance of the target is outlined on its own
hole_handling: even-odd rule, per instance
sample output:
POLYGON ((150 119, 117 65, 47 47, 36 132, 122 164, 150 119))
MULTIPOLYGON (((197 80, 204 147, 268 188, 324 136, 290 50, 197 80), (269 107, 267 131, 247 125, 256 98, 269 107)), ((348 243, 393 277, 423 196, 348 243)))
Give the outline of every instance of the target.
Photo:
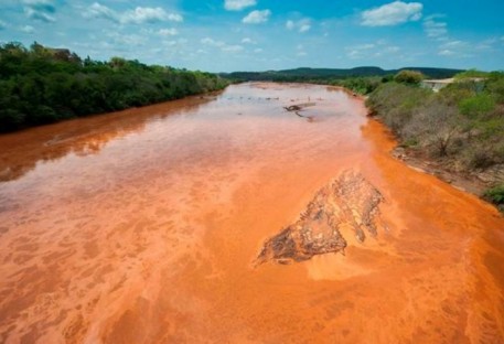
POLYGON ((420 2, 394 1, 362 12, 361 24, 364 26, 390 26, 407 21, 417 21, 421 18, 422 9, 423 4, 420 2))

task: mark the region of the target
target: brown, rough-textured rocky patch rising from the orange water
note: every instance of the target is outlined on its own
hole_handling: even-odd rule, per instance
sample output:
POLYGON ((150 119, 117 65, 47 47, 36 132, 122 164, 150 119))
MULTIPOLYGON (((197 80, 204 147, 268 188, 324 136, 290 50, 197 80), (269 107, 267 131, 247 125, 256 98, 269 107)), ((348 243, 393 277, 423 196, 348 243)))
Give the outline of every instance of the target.
POLYGON ((342 228, 353 229, 358 241, 376 236, 379 191, 361 173, 346 171, 317 192, 299 219, 266 240, 255 265, 303 261, 315 255, 344 254, 342 228))

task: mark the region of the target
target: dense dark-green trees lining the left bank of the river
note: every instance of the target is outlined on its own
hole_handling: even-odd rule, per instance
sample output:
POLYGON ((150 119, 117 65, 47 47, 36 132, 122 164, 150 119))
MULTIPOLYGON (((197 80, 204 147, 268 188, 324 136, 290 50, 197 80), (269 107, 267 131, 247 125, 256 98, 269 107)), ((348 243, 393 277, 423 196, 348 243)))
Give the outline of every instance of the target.
POLYGON ((121 110, 222 89, 227 80, 112 57, 82 60, 34 43, 0 45, 0 131, 121 110))

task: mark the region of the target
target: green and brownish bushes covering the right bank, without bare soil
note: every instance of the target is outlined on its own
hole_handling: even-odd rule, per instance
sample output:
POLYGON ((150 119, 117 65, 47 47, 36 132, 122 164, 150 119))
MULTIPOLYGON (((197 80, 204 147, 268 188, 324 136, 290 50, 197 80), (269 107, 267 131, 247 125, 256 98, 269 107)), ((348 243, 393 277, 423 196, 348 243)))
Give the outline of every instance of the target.
MULTIPOLYGON (((439 93, 411 79, 398 80, 377 87, 366 104, 404 147, 427 152, 455 170, 504 164, 504 73, 469 71, 439 93)), ((504 204, 500 183, 486 196, 504 204)))

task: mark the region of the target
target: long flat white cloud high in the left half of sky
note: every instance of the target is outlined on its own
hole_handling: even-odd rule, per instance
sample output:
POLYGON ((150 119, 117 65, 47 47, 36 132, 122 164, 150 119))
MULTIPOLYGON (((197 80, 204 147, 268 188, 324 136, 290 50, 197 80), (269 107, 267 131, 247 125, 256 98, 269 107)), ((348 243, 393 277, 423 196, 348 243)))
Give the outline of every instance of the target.
POLYGON ((154 23, 162 21, 182 22, 182 15, 178 13, 169 13, 162 8, 143 8, 137 7, 135 10, 117 12, 112 9, 94 2, 84 13, 86 18, 103 18, 121 24, 142 24, 154 23))

